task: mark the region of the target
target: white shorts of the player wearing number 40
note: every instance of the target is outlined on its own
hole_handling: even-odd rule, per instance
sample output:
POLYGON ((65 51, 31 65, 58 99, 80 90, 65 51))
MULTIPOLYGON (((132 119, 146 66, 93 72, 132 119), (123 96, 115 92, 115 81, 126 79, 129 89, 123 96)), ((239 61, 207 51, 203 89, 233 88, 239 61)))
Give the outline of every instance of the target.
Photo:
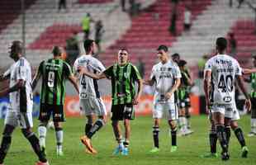
POLYGON ((211 112, 220 112, 221 114, 225 115, 225 117, 230 118, 232 120, 239 119, 239 112, 236 109, 235 103, 234 104, 213 104, 211 106, 211 112))

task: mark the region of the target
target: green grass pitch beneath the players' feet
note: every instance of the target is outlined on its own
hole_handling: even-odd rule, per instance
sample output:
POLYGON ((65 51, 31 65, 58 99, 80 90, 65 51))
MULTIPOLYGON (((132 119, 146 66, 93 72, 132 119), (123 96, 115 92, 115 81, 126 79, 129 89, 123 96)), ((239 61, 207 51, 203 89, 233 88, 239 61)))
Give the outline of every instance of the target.
MULTIPOLYGON (((34 120, 36 127, 38 121, 34 120)), ((3 129, 3 120, 0 120, 0 131, 3 129)), ((160 152, 149 153, 153 146, 152 118, 150 116, 137 117, 131 122, 131 139, 129 156, 112 156, 116 147, 116 141, 111 130, 111 121, 107 126, 92 137, 93 147, 97 149, 95 156, 84 152, 84 146, 80 143, 83 134, 85 119, 67 118, 64 123, 64 157, 55 156, 55 132, 48 130, 46 139, 47 156, 50 165, 255 165, 256 164, 256 137, 247 137, 250 129, 249 115, 244 115, 239 120, 239 125, 244 130, 247 146, 249 148, 248 158, 240 158, 240 146, 232 132, 230 141, 230 160, 223 162, 220 158, 200 158, 200 155, 209 151, 208 130, 209 122, 206 115, 192 117, 192 130, 194 134, 178 137, 178 151, 170 153, 170 137, 166 120, 162 120, 159 134, 160 152)), ((218 153, 220 145, 218 144, 218 153)), ((5 165, 34 165, 37 158, 32 152, 31 146, 17 129, 12 136, 12 146, 5 159, 5 165)))

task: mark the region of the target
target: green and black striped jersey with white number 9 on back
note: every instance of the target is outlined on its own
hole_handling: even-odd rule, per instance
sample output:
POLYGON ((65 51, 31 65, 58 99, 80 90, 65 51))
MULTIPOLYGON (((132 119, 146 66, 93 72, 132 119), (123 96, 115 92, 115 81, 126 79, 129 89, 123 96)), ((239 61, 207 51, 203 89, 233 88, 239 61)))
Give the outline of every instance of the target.
POLYGON ((47 59, 40 63, 38 72, 42 75, 40 103, 64 105, 65 79, 73 73, 69 64, 62 59, 47 59))

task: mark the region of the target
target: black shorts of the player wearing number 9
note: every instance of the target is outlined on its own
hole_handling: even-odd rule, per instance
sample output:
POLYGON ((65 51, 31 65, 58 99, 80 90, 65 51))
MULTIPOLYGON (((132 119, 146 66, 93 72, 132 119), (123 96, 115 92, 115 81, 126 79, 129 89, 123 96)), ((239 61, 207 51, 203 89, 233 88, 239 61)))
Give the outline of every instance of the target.
POLYGON ((50 120, 50 115, 53 117, 55 122, 63 122, 64 119, 64 108, 63 105, 50 105, 50 104, 40 104, 40 121, 50 120))

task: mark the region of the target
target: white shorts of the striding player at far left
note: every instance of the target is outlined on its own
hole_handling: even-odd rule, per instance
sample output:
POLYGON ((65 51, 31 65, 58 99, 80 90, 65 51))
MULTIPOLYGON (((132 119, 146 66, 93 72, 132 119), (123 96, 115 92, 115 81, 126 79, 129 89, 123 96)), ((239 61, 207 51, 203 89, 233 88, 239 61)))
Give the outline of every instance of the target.
POLYGON ((32 112, 7 111, 4 124, 12 125, 14 127, 20 126, 21 129, 32 128, 33 127, 32 112))

